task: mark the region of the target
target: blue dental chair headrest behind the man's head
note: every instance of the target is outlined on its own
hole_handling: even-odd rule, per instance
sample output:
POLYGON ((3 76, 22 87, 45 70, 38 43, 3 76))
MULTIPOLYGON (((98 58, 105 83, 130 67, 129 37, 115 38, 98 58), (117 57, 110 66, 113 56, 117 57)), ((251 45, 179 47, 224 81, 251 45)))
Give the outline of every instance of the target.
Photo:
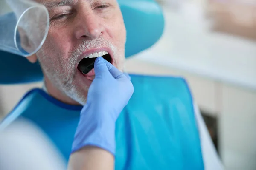
MULTIPOLYGON (((164 28, 163 12, 154 0, 118 2, 127 29, 125 56, 130 57, 150 48, 160 39, 164 28)), ((0 26, 2 22, 0 17, 0 26)), ((39 82, 43 79, 40 65, 30 63, 25 57, 0 51, 0 61, 0 84, 39 82)))

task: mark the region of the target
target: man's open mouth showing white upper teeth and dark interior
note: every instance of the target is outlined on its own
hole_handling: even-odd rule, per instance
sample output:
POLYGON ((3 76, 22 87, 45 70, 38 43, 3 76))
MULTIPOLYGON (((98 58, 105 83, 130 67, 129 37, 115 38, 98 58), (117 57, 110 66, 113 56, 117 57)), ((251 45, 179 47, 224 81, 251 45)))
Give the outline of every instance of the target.
POLYGON ((96 60, 97 57, 103 57, 104 59, 106 59, 108 62, 112 63, 112 58, 111 56, 108 54, 107 51, 100 51, 97 53, 93 53, 90 54, 86 57, 84 57, 78 64, 78 70, 82 73, 82 74, 87 74, 89 73, 93 68, 94 68, 94 62, 96 60))

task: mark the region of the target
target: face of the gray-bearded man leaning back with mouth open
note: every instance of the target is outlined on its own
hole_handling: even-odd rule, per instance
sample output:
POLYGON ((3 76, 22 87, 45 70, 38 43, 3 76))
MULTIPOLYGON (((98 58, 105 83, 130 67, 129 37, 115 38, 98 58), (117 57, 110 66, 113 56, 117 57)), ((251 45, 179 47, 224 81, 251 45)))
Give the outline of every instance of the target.
POLYGON ((112 64, 123 70, 126 30, 119 5, 116 0, 41 1, 50 17, 47 40, 37 54, 46 84, 85 104, 95 75, 94 70, 78 70, 84 57, 106 51, 112 64))

